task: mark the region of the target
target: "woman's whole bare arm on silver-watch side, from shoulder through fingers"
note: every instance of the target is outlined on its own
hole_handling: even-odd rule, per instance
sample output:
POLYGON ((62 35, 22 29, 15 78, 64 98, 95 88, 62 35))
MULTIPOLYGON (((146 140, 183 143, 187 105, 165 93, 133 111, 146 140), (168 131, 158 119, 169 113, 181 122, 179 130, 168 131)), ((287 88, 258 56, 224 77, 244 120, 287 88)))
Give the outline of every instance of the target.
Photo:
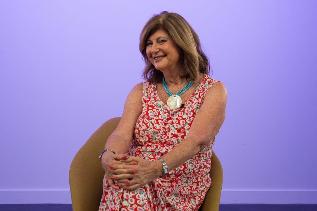
MULTIPOLYGON (((162 156, 169 171, 201 152, 215 137, 225 118, 226 102, 227 90, 225 86, 221 82, 213 84, 191 124, 187 138, 162 156)), ((114 179, 120 180, 119 187, 124 187, 126 190, 137 189, 162 175, 163 165, 159 160, 147 162, 142 158, 131 156, 126 161, 138 163, 133 167, 135 170, 133 175, 121 173, 124 168, 127 168, 127 165, 119 164, 114 167, 118 174, 114 176, 114 179)))

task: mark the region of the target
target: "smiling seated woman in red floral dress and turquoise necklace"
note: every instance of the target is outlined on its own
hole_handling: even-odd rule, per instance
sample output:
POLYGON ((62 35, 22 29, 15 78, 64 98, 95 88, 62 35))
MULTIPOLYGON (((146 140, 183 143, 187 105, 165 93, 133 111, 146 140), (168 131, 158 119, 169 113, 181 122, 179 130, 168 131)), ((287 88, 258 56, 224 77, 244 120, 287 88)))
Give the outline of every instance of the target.
POLYGON ((143 77, 100 160, 99 210, 198 210, 210 187, 214 137, 227 92, 185 19, 162 12, 140 35, 143 77), (216 83, 218 82, 218 83, 216 83))

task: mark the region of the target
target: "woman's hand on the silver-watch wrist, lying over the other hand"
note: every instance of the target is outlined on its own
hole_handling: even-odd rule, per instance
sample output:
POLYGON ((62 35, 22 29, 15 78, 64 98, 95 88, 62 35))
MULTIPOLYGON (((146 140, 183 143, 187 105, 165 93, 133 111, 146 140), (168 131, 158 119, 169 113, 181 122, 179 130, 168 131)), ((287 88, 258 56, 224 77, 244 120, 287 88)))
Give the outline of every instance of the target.
POLYGON ((129 156, 125 163, 136 162, 137 165, 116 164, 113 165, 113 180, 118 183, 119 188, 134 190, 152 182, 162 174, 160 161, 149 162, 143 158, 129 156), (133 169, 129 174, 125 169, 133 169))

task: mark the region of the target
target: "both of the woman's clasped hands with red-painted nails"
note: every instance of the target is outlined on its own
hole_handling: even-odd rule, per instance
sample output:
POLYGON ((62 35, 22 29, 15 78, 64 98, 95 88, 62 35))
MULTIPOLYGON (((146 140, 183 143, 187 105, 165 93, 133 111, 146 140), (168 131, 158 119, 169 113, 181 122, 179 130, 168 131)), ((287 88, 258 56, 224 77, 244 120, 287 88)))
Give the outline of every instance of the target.
POLYGON ((107 155, 101 160, 109 185, 117 190, 135 190, 158 178, 162 168, 159 163, 127 154, 107 155))

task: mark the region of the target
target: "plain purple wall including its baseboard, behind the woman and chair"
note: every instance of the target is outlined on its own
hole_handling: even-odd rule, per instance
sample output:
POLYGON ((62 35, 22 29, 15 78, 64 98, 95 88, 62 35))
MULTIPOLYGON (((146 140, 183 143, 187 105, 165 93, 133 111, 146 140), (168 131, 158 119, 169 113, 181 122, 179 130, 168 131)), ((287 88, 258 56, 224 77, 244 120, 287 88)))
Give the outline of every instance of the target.
POLYGON ((0 1, 0 203, 71 203, 70 163, 142 81, 139 34, 162 10, 192 25, 228 90, 221 203, 317 203, 316 8, 0 1))

